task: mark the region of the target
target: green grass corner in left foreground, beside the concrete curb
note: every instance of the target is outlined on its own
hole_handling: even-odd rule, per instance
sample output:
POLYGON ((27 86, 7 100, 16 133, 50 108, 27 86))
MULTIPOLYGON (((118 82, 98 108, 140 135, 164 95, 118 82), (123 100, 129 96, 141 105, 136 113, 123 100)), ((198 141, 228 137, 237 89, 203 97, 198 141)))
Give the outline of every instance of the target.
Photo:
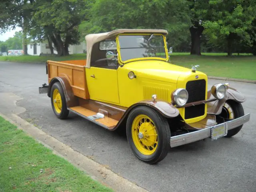
POLYGON ((110 192, 0 116, 0 192, 110 192), (43 170, 40 173, 40 170, 43 170))

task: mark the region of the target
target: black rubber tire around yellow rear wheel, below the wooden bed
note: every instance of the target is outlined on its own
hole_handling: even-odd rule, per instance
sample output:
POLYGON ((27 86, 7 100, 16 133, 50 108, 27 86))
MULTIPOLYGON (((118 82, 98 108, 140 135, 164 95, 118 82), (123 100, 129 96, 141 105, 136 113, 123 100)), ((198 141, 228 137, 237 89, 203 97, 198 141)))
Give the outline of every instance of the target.
POLYGON ((69 110, 67 109, 64 90, 63 90, 60 82, 56 82, 56 83, 54 83, 52 85, 52 88, 51 88, 51 103, 52 103, 52 110, 53 110, 54 114, 59 119, 66 119, 68 117, 69 110), (56 109, 54 108, 53 92, 54 92, 55 89, 58 89, 58 91, 60 92, 60 97, 61 97, 61 101, 62 101, 62 108, 61 108, 61 112, 60 113, 58 113, 56 111, 56 109))

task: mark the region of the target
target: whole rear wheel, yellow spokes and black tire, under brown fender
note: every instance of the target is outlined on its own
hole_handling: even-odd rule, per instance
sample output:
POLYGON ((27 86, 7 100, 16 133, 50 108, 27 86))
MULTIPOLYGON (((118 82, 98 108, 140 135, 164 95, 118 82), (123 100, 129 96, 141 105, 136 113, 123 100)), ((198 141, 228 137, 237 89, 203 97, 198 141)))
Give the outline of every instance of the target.
POLYGON ((66 106, 64 90, 60 82, 56 82, 52 85, 51 102, 52 102, 52 109, 55 115, 59 119, 66 119, 68 117, 69 110, 67 109, 67 106, 66 106))

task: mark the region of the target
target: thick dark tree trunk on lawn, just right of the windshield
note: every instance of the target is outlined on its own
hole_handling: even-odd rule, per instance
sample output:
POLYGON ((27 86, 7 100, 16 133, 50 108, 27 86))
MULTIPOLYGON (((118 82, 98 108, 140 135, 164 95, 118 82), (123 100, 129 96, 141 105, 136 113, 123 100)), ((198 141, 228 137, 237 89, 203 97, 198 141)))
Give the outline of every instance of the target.
POLYGON ((204 28, 196 22, 194 26, 190 27, 190 35, 191 35, 191 55, 201 55, 201 35, 204 28))

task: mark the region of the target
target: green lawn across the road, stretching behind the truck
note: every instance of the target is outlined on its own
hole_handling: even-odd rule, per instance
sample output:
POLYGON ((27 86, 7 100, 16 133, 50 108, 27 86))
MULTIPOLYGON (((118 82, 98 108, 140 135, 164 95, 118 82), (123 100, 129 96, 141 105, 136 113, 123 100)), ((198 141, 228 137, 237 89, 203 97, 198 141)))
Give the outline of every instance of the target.
MULTIPOLYGON (((82 60, 86 54, 73 54, 70 56, 0 56, 0 61, 13 62, 46 62, 46 60, 82 60)), ((200 65, 199 71, 209 76, 241 78, 256 80, 256 56, 252 54, 233 54, 227 57, 226 53, 202 53, 202 56, 189 53, 173 53, 170 55, 172 64, 191 68, 200 65)))

